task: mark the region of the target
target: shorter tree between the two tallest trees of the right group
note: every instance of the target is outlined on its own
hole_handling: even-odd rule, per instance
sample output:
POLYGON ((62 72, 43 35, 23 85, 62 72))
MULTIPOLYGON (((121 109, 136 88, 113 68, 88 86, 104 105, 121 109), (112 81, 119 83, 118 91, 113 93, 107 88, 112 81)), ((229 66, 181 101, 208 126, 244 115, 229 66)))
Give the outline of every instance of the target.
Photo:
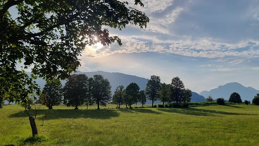
POLYGON ((163 105, 170 101, 170 84, 161 84, 161 88, 159 90, 159 99, 160 102, 163 102, 163 105))

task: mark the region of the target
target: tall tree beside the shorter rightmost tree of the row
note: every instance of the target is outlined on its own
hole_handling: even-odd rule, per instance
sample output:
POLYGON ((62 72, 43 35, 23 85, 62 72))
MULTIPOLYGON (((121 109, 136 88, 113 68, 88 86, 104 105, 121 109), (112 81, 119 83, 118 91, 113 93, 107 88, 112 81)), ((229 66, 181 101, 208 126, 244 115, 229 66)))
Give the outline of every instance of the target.
POLYGON ((184 98, 184 84, 179 77, 174 77, 171 83, 171 101, 182 102, 184 98))

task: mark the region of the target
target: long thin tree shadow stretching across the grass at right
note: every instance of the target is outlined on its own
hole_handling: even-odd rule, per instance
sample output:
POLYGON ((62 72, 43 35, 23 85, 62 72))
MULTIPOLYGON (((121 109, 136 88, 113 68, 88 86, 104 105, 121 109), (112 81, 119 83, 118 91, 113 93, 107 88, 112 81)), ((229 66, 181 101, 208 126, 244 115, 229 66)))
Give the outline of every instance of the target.
POLYGON ((165 111, 170 113, 179 113, 179 114, 188 114, 195 116, 219 116, 215 114, 223 114, 223 115, 256 115, 256 114, 239 114, 239 113, 231 113, 225 111, 216 111, 216 110, 206 110, 206 109, 197 109, 197 108, 159 108, 159 111, 165 111))

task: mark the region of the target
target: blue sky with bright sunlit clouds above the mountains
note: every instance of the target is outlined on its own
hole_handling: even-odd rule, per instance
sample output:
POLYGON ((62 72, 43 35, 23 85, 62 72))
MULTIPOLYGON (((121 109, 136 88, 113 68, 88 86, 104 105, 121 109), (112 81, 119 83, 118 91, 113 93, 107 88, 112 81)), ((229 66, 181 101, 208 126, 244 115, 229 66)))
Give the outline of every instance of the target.
POLYGON ((259 90, 259 1, 142 0, 129 6, 150 19, 147 28, 109 29, 122 46, 87 46, 79 71, 121 72, 171 83, 179 76, 200 93, 230 82, 259 90))

